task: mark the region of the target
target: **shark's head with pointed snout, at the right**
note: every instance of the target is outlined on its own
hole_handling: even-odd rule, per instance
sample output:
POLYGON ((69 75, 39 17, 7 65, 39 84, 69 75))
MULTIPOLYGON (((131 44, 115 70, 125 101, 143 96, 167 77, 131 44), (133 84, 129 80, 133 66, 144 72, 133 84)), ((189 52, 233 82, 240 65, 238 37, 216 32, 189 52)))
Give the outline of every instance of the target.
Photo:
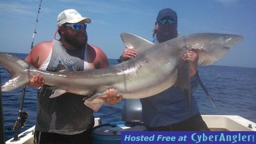
POLYGON ((221 33, 196 33, 182 36, 186 51, 198 52, 198 65, 211 65, 243 40, 243 36, 221 33))

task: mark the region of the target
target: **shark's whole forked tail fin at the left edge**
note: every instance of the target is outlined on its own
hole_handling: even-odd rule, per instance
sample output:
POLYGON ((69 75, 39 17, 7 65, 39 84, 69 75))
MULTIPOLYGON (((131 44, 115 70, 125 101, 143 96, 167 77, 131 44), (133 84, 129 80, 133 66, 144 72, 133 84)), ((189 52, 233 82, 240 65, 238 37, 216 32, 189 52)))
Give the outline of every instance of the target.
POLYGON ((34 68, 26 61, 3 52, 0 52, 0 65, 6 68, 12 76, 11 79, 1 87, 3 92, 15 90, 28 83, 31 79, 28 69, 34 68))

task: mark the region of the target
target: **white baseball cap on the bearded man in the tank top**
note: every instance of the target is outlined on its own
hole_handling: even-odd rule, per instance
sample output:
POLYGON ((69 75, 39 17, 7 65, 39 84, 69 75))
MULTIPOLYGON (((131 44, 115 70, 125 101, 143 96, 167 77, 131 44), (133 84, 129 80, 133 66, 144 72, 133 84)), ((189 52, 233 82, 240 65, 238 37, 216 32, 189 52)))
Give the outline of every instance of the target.
POLYGON ((65 23, 77 23, 77 22, 84 22, 84 23, 91 23, 91 19, 88 17, 82 17, 82 15, 74 9, 64 10, 58 15, 57 23, 58 27, 65 23))

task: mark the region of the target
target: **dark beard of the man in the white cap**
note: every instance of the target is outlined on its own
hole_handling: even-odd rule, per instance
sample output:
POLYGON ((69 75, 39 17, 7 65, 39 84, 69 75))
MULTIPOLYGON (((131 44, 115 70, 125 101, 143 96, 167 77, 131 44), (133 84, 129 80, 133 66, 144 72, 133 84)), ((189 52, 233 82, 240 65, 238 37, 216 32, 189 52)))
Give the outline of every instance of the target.
MULTIPOLYGON (((85 47, 85 45, 87 44, 87 40, 88 40, 88 36, 84 35, 82 40, 79 40, 76 36, 62 36, 63 40, 65 40, 65 42, 67 42, 68 44, 76 47, 76 49, 80 49, 82 47, 85 47)), ((81 39, 81 37, 80 37, 81 39)))

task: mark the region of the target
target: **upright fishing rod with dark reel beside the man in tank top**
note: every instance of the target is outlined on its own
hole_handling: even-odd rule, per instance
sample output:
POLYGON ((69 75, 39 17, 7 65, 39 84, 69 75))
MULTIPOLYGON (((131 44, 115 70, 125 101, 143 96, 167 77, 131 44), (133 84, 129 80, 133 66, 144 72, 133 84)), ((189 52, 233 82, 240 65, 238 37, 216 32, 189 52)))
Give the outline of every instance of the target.
MULTIPOLYGON (((34 45, 34 40, 35 40, 35 35, 36 35, 36 27, 37 27, 37 24, 39 22, 38 16, 39 16, 39 13, 40 13, 40 10, 41 10, 41 3, 42 3, 42 0, 40 0, 39 6, 38 6, 35 28, 34 28, 34 31, 33 31, 32 42, 31 42, 31 49, 33 49, 33 47, 34 47, 33 45, 34 45)), ((25 93, 26 93, 26 85, 23 86, 22 93, 20 95, 20 106, 19 106, 18 118, 15 121, 15 124, 14 124, 13 128, 8 129, 8 130, 15 130, 14 136, 13 136, 13 141, 19 140, 19 138, 18 138, 19 129, 20 129, 20 127, 25 126, 26 119, 28 118, 28 113, 26 111, 22 112, 24 99, 25 99, 25 93)))

